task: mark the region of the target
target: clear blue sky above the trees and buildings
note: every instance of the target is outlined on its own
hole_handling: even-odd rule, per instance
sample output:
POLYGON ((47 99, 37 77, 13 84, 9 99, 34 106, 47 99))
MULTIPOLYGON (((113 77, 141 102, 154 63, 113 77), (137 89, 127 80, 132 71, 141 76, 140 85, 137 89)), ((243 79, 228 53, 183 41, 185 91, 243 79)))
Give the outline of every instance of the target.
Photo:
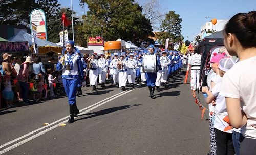
MULTIPOLYGON (((61 7, 70 7, 71 0, 59 0, 61 7)), ((200 33, 200 27, 213 17, 219 20, 229 19, 239 12, 256 11, 256 0, 215 0, 215 1, 173 1, 159 0, 161 10, 164 13, 172 10, 182 18, 182 35, 185 40, 194 40, 194 36, 200 33), (188 37, 188 38, 187 38, 188 37)), ((73 9, 78 16, 84 14, 84 10, 79 5, 79 0, 73 0, 73 9)), ((86 10, 87 11, 87 10, 86 10)))

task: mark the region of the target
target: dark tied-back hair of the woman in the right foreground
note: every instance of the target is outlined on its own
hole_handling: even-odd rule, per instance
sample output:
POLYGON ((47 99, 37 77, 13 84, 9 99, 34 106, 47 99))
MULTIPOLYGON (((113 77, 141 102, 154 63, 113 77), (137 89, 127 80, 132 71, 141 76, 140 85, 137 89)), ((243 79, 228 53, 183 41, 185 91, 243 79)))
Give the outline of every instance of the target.
POLYGON ((256 47, 256 11, 234 15, 226 24, 224 33, 236 35, 244 48, 256 47))

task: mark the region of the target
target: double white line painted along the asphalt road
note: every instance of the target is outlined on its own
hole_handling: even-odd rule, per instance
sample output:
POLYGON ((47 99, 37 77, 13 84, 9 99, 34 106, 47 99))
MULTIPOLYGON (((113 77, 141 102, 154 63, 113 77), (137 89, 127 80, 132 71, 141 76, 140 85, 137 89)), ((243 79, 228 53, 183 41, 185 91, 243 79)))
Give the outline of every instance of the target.
MULTIPOLYGON (((134 88, 139 87, 139 86, 141 86, 141 85, 142 85, 142 84, 139 84, 139 85, 135 86, 134 88)), ((133 90, 134 90, 134 89, 130 88, 130 89, 127 90, 127 91, 120 92, 120 93, 115 94, 115 95, 113 95, 113 96, 111 96, 111 97, 109 97, 109 98, 106 98, 106 99, 104 99, 104 100, 101 100, 101 101, 99 101, 99 102, 97 102, 97 103, 95 103, 95 104, 93 104, 93 105, 91 105, 91 106, 88 106, 88 107, 86 107, 86 108, 83 108, 83 109, 81 110, 81 112, 82 112, 83 110, 88 109, 88 108, 90 108, 90 109, 88 109, 88 110, 86 110, 86 111, 84 111, 84 112, 82 112, 82 113, 80 113, 80 114, 86 114, 86 113, 90 112, 91 110, 93 110, 93 109, 95 109, 95 108, 97 108, 97 107, 99 107, 99 106, 101 106, 101 105, 104 105, 104 104, 106 104, 106 103, 108 103, 108 102, 110 102, 110 101, 112 101, 112 100, 114 100, 114 99, 116 99, 116 98, 118 98, 118 97, 120 97, 120 96, 122 96, 122 95, 124 95, 124 94, 127 94, 127 93, 129 93, 129 92, 131 92, 131 91, 133 91, 133 90), (104 101, 104 102, 103 102, 103 101, 104 101), (102 102, 102 103, 101 103, 101 102, 102 102), (99 103, 100 103, 100 104, 99 104, 99 103), (97 105, 97 104, 98 104, 98 105, 97 105), (92 107, 92 108, 91 108, 91 107, 92 107)), ((51 125, 54 125, 54 124, 58 123, 59 121, 65 120, 65 119, 67 119, 67 118, 69 118, 69 116, 63 117, 63 118, 61 118, 61 119, 59 119, 59 120, 57 120, 57 121, 55 121, 55 122, 53 122, 53 123, 48 124, 47 126, 38 128, 38 129, 36 129, 36 130, 34 130, 34 131, 32 131, 32 132, 29 132, 28 134, 26 134, 26 135, 24 135, 24 136, 21 136, 21 137, 19 137, 19 138, 16 138, 16 139, 10 141, 10 142, 7 142, 7 143, 1 145, 0 148, 3 148, 3 147, 5 147, 5 146, 7 146, 7 145, 10 145, 10 144, 12 144, 12 143, 14 143, 14 142, 16 142, 16 141, 18 141, 18 140, 20 140, 20 139, 23 139, 23 138, 25 138, 25 137, 27 137, 27 136, 29 136, 29 135, 32 135, 32 134, 34 134, 35 132, 37 132, 37 131, 39 131, 39 130, 42 130, 42 129, 47 128, 47 127, 50 127, 51 125)), ((50 130, 56 128, 56 127, 58 127, 60 124, 64 124, 64 123, 66 123, 66 122, 68 122, 68 120, 65 120, 65 121, 63 121, 63 122, 60 122, 60 123, 58 123, 58 124, 56 124, 56 125, 54 125, 54 126, 52 126, 52 127, 50 127, 50 128, 47 128, 47 129, 45 129, 45 130, 43 130, 43 131, 41 131, 41 132, 39 132, 39 133, 37 133, 37 134, 31 136, 31 137, 28 137, 27 139, 25 139, 25 140, 23 140, 23 141, 20 141, 20 142, 18 142, 18 143, 16 143, 16 144, 13 144, 12 146, 9 146, 9 147, 7 147, 6 149, 1 150, 1 151, 0 151, 0 154, 3 154, 3 153, 5 153, 5 152, 7 152, 7 151, 9 151, 9 150, 12 150, 12 149, 14 149, 15 147, 18 147, 18 146, 20 146, 20 145, 22 145, 22 144, 24 144, 24 143, 26 143, 26 142, 28 142, 28 141, 30 141, 30 140, 36 138, 36 137, 42 135, 42 134, 45 134, 46 132, 48 132, 48 131, 50 131, 50 130)))

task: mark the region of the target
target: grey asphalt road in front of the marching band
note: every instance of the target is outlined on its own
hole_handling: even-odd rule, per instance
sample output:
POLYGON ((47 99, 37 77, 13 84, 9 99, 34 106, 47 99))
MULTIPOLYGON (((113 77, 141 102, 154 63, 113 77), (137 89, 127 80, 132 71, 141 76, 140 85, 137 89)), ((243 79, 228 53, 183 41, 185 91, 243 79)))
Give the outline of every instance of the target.
POLYGON ((208 121, 184 76, 185 69, 155 99, 145 84, 83 88, 72 124, 67 97, 0 112, 0 154, 208 154, 208 121))

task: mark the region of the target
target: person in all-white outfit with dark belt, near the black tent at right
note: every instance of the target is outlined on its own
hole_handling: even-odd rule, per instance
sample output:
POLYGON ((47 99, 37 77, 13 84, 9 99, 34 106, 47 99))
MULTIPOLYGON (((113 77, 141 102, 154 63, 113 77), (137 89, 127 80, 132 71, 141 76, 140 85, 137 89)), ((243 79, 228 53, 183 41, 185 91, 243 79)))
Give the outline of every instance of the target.
POLYGON ((196 90, 200 88, 200 66, 201 66, 201 57, 200 51, 198 48, 195 48, 194 55, 191 55, 188 59, 188 64, 191 66, 191 90, 196 90))

